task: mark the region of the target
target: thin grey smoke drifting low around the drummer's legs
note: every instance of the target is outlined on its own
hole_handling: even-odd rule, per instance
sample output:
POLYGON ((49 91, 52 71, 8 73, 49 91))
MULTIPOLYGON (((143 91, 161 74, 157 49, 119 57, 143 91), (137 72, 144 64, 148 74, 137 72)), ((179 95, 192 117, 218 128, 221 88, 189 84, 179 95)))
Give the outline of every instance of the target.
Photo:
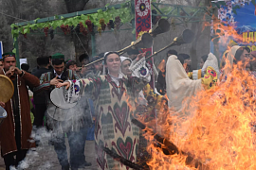
MULTIPOLYGON (((64 138, 64 134, 69 133, 71 137, 69 140, 72 140, 72 144, 85 144, 84 133, 86 134, 87 128, 93 124, 91 110, 89 108, 87 98, 82 96, 78 101, 77 105, 68 110, 62 110, 56 108, 56 106, 51 106, 54 110, 57 110, 55 113, 60 113, 64 116, 64 121, 54 120, 51 115, 57 116, 55 113, 52 114, 46 111, 46 124, 50 125, 50 130, 46 127, 33 127, 31 132, 31 143, 36 143, 37 147, 30 148, 27 151, 27 157, 24 161, 21 161, 17 168, 11 167, 12 170, 19 169, 35 169, 35 170, 45 170, 52 169, 53 166, 56 166, 57 155, 54 151, 53 144, 61 143, 64 138), (59 111, 59 112, 58 112, 59 111), (79 135, 73 134, 72 131, 79 132, 79 135), (51 159, 52 158, 52 159, 51 159)), ((51 111, 51 110, 48 110, 51 111)), ((54 117, 57 118, 57 117, 54 117)), ((65 143, 66 148, 69 147, 69 144, 65 143)), ((61 153, 61 157, 68 158, 67 150, 64 153, 61 153)), ((60 153, 59 153, 60 154, 60 153)), ((58 161, 59 164, 59 161, 58 161)))

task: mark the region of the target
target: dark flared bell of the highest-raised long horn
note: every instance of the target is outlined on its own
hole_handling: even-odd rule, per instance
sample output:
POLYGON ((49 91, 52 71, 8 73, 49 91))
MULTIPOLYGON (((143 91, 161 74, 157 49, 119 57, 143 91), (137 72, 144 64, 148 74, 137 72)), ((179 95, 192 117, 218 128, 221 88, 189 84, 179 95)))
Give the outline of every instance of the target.
POLYGON ((149 33, 156 37, 156 35, 165 33, 170 30, 170 24, 166 19, 160 19, 156 25, 149 31, 149 33))

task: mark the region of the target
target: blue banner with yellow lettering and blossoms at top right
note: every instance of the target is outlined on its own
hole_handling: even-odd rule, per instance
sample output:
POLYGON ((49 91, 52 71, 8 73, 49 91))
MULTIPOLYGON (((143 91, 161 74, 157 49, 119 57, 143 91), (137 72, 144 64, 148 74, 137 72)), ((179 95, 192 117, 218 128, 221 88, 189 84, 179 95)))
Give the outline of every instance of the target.
MULTIPOLYGON (((220 2, 219 2, 220 3, 220 2)), ((255 0, 228 0, 218 9, 218 19, 224 26, 234 26, 236 35, 220 37, 219 52, 223 54, 232 45, 247 46, 256 51, 256 3, 255 0)))

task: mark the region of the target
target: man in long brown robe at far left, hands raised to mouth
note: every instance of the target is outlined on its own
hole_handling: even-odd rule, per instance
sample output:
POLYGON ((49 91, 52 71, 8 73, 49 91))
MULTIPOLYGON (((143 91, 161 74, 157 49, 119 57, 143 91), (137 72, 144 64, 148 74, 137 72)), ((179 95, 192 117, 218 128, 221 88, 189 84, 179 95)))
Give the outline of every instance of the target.
POLYGON ((8 117, 0 126, 1 155, 4 158, 6 169, 17 166, 27 155, 27 150, 35 144, 30 138, 32 125, 30 119, 30 105, 27 86, 32 89, 40 85, 36 76, 16 67, 14 53, 2 55, 4 69, 1 75, 8 76, 14 86, 14 93, 2 107, 8 112, 8 117))

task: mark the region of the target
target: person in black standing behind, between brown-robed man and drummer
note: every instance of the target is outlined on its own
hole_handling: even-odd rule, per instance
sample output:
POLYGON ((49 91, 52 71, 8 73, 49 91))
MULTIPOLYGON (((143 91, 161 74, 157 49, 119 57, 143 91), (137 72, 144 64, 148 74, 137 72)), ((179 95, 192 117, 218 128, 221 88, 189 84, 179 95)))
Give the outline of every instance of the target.
MULTIPOLYGON (((32 72, 32 75, 40 78, 43 74, 49 72, 49 58, 48 57, 39 57, 36 59, 38 69, 35 72, 32 72)), ((34 92, 33 103, 35 105, 35 119, 33 125, 35 127, 43 127, 44 116, 47 109, 46 103, 46 93, 37 93, 34 92)))

